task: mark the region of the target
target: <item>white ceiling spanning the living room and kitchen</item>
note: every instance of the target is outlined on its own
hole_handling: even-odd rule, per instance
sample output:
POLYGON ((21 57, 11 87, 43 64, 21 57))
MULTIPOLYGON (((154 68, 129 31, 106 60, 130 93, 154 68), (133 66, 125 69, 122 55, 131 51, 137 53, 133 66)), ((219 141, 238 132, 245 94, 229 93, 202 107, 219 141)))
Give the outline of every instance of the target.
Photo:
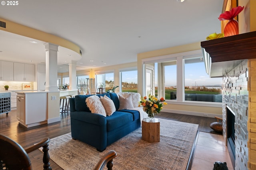
MULTIPOLYGON (((205 41, 209 34, 221 32, 218 16, 223 0, 18 2, 18 6, 0 5, 0 18, 78 45, 82 59, 77 70, 136 62, 138 53, 205 41)), ((0 31, 0 60, 45 63, 45 42, 28 42, 32 40, 0 31)), ((68 64, 70 51, 63 47, 59 51, 58 65, 68 64)), ((67 72, 68 65, 59 69, 67 72)))

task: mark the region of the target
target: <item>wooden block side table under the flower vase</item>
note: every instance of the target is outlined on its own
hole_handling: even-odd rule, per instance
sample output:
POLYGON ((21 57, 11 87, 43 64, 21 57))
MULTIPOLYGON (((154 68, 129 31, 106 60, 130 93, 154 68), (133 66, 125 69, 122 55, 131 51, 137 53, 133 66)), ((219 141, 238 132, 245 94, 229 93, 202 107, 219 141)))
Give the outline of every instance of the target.
POLYGON ((149 143, 160 142, 160 122, 154 118, 142 120, 142 140, 149 143))

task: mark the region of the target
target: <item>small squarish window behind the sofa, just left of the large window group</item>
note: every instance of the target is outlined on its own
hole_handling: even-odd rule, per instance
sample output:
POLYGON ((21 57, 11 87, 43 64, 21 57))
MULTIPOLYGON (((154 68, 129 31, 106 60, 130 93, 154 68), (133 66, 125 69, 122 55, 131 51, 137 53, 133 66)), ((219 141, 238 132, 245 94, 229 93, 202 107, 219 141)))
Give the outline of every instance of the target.
POLYGON ((122 92, 138 92, 138 71, 129 70, 129 71, 120 71, 120 90, 122 92))

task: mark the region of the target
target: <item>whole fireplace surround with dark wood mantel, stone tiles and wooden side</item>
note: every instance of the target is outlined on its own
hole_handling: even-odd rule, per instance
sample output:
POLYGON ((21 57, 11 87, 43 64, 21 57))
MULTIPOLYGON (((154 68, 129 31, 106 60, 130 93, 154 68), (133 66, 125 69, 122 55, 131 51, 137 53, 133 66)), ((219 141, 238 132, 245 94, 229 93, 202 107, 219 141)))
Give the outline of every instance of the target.
POLYGON ((223 136, 235 113, 235 170, 256 170, 256 31, 201 42, 210 77, 222 77, 223 136), (205 57, 206 55, 206 57, 205 57))

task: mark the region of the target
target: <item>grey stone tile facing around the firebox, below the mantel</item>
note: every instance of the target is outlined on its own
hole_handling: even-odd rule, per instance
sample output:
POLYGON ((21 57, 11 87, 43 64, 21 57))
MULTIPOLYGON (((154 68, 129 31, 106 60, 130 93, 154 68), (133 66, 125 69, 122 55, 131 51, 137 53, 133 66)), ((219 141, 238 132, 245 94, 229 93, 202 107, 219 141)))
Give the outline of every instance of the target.
MULTIPOLYGON (((235 113, 235 164, 236 170, 246 170, 249 162, 248 154, 248 60, 242 61, 228 72, 222 80, 222 118, 223 136, 228 145, 227 108, 235 113), (227 107, 228 106, 228 107, 227 107)), ((230 128, 230 127, 229 127, 230 128)), ((231 150, 229 149, 229 152, 231 150)), ((230 158, 233 163, 232 153, 230 158)))

